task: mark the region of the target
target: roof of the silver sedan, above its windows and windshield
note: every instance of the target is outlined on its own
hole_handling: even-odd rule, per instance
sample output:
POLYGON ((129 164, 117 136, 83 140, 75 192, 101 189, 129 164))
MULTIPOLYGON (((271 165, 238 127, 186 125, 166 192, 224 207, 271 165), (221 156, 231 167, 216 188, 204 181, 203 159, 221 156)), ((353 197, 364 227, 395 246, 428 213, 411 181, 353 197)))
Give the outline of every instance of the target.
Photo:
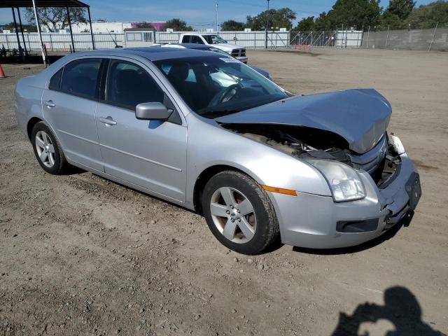
MULTIPOLYGON (((139 48, 114 48, 114 49, 102 49, 102 50, 90 50, 83 52, 76 52, 79 56, 130 56, 136 55, 149 59, 151 62, 160 61, 162 59, 176 59, 183 57, 200 57, 204 56, 204 50, 195 50, 188 48, 160 48, 160 45, 152 47, 139 47, 139 48)), ((207 55, 213 57, 213 54, 207 53, 207 55)), ((222 55, 221 55, 222 57, 222 55)))

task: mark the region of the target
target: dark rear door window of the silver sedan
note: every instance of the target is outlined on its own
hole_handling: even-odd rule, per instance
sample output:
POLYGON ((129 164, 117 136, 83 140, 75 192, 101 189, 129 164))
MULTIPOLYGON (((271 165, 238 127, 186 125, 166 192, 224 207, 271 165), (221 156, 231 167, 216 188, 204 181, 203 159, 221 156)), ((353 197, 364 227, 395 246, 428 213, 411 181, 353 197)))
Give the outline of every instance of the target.
POLYGON ((61 91, 94 99, 101 59, 78 59, 64 66, 61 91))

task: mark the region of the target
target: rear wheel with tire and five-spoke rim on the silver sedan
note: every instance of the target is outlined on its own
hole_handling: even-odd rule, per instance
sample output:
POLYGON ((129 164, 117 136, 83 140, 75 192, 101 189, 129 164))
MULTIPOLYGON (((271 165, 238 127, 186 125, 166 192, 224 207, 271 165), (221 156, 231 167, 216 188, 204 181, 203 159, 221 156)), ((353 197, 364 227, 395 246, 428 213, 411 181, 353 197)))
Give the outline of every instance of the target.
POLYGON ((43 122, 36 123, 31 132, 31 144, 37 162, 45 172, 53 175, 64 174, 69 163, 66 162, 61 144, 50 127, 43 122))

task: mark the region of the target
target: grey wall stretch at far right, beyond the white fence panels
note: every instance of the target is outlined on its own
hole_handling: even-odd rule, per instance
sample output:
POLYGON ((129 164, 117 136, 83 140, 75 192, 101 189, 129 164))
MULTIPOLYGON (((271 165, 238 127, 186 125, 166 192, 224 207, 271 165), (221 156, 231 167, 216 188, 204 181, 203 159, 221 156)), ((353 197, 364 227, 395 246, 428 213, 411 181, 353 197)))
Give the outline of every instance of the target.
POLYGON ((448 28, 364 31, 366 49, 448 51, 448 28))

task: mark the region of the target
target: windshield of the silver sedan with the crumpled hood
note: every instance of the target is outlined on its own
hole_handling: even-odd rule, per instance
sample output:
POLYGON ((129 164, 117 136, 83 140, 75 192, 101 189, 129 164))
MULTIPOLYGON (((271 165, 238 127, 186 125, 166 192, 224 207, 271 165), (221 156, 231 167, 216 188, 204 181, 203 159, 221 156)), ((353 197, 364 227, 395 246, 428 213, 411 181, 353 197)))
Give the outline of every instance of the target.
POLYGON ((221 55, 154 62, 190 109, 217 118, 288 97, 237 59, 221 55))

